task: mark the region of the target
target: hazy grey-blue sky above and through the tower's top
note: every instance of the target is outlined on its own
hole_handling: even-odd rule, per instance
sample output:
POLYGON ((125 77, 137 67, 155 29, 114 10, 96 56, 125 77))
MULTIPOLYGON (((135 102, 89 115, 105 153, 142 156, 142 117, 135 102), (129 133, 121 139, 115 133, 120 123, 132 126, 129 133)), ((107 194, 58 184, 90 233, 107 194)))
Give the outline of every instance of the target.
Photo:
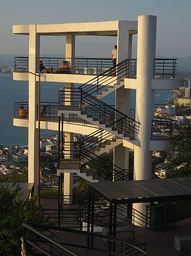
MULTIPOLYGON (((156 54, 190 56, 190 0, 0 0, 0 54, 24 55, 28 37, 13 35, 13 25, 137 20, 138 15, 157 16, 156 54)), ((41 54, 60 55, 64 37, 43 37, 41 54)), ((78 37, 76 55, 110 58, 116 38, 78 37)))

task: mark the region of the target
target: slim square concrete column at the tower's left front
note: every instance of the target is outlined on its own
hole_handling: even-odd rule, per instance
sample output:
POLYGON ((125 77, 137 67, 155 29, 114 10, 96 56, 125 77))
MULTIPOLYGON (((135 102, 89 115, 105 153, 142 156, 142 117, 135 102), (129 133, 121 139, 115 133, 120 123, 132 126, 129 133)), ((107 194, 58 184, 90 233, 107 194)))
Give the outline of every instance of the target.
MULTIPOLYGON (((36 25, 29 25, 29 71, 36 73, 36 58, 39 57, 40 36, 36 34, 36 25)), ((36 129, 36 106, 38 104, 38 77, 29 74, 29 159, 28 182, 34 183, 38 192, 38 129, 36 129), (36 82, 37 81, 37 82, 36 82)))

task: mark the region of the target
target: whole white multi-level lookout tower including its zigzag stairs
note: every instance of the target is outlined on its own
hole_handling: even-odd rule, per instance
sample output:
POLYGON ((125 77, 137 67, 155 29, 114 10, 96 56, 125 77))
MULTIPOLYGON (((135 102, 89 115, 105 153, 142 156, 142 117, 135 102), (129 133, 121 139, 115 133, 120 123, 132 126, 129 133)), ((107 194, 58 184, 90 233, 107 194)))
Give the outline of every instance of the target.
MULTIPOLYGON (((114 164, 108 179, 112 181, 110 184, 130 179, 130 150, 134 151, 133 179, 150 180, 152 152, 172 149, 165 138, 165 134, 172 134, 171 121, 153 117, 155 90, 178 87, 178 81, 175 80, 176 59, 166 61, 156 58, 156 16, 138 16, 138 22, 116 20, 14 25, 13 33, 29 36, 29 56, 22 58, 22 65, 20 59, 16 58, 13 79, 29 81, 29 103, 26 106, 28 104, 30 115, 27 119, 15 115, 14 125, 29 128, 28 179, 29 183, 34 183, 35 191, 38 191, 38 125, 41 129, 58 131, 60 145, 57 174, 64 195, 72 196, 73 173, 91 182, 95 189, 96 183, 105 182, 104 173, 90 170, 90 160, 101 161, 99 156, 112 149, 114 164), (133 38, 137 31, 137 59, 132 59, 133 38), (40 39, 47 35, 66 37, 64 57, 41 57, 40 39), (76 58, 75 38, 86 35, 116 37, 116 65, 113 66, 112 59, 107 58, 76 58), (43 61, 45 68, 41 69, 40 61, 43 61), (64 71, 58 68, 62 65, 65 65, 64 71), (58 104, 41 103, 38 106, 39 78, 41 83, 64 83, 59 91, 58 104), (81 86, 75 88, 76 83, 81 86), (130 117, 132 90, 136 90, 136 99, 133 117, 130 117), (111 92, 115 92, 115 107, 102 101, 111 92), (43 113, 40 121, 36 115, 38 109, 43 113), (45 109, 46 112, 42 112, 45 109), (56 115, 53 116, 53 112, 48 112, 48 109, 56 110, 56 115), (84 134, 80 144, 73 141, 73 134, 84 134)), ((167 107, 167 111, 171 113, 175 107, 167 107)), ((106 170, 107 162, 102 161, 101 166, 106 170)), ((109 182, 106 183, 108 185, 109 182)), ((68 200, 68 203, 71 201, 68 200)), ((135 203, 134 209, 146 214, 148 204, 135 203)))

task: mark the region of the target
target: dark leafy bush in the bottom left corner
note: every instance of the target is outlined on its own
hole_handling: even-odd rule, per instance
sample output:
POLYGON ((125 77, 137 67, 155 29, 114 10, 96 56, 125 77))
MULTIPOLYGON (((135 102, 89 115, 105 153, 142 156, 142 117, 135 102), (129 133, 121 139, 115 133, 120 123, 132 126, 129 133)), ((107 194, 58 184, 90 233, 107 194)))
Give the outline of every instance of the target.
POLYGON ((42 207, 36 200, 36 195, 31 192, 24 200, 18 185, 13 190, 8 188, 8 183, 0 185, 0 255, 20 255, 22 223, 43 222, 42 216, 36 215, 42 207))

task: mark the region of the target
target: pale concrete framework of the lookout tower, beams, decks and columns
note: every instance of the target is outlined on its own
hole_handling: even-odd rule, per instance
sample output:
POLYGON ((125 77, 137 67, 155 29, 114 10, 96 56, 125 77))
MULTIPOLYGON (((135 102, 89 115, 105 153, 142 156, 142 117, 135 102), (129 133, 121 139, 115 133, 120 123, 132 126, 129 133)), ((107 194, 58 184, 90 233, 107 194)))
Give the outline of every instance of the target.
MULTIPOLYGON (((63 165, 71 159, 71 155, 66 157, 66 152, 72 152, 73 150, 73 144, 71 142, 73 141, 73 133, 88 135, 101 128, 103 129, 101 131, 102 135, 103 132, 109 132, 116 140, 113 142, 110 139, 110 145, 107 145, 106 149, 102 148, 97 154, 103 153, 104 150, 113 147, 114 163, 118 168, 124 170, 128 169, 129 150, 132 149, 134 150, 134 180, 151 179, 152 151, 171 149, 171 145, 167 140, 161 139, 155 141, 151 139, 155 90, 177 89, 178 86, 177 80, 174 80, 175 66, 173 64, 171 65, 172 72, 170 72, 169 60, 167 62, 167 73, 171 73, 170 76, 167 76, 165 71, 163 72, 163 70, 157 68, 157 64, 161 61, 165 66, 165 60, 156 59, 156 16, 138 16, 138 22, 116 20, 111 22, 51 25, 14 25, 13 33, 27 35, 29 37, 29 73, 23 72, 23 67, 19 67, 19 64, 17 66, 16 63, 16 71, 14 72, 13 79, 29 81, 30 115, 29 120, 14 118, 14 125, 29 128, 29 182, 34 183, 35 191, 38 191, 38 120, 36 118, 36 106, 38 105, 39 76, 41 76, 41 82, 64 83, 64 88, 60 91, 61 106, 58 111, 58 116, 61 119, 61 122, 59 122, 60 127, 58 127, 56 122, 52 122, 51 119, 47 119, 47 121, 43 119, 40 124, 41 129, 57 131, 59 128, 60 131, 64 131, 64 140, 62 141, 64 147, 63 145, 60 146, 66 158, 60 161, 63 165), (137 31, 137 60, 134 60, 132 59, 133 37, 137 34, 137 31), (64 59, 66 59, 67 65, 69 66, 69 72, 39 73, 39 59, 42 59, 40 39, 47 35, 55 37, 63 36, 66 38, 64 59), (75 38, 86 35, 116 37, 118 45, 117 70, 113 70, 112 60, 104 58, 101 60, 101 71, 100 64, 97 64, 99 63, 98 59, 95 63, 91 60, 91 65, 87 67, 84 67, 82 64, 77 67, 75 59, 75 38), (120 74, 119 70, 121 70, 120 74), (106 87, 106 90, 100 92, 97 98, 94 97, 93 100, 89 96, 90 91, 88 91, 87 94, 84 94, 86 98, 82 98, 82 100, 85 99, 84 101, 81 100, 78 102, 79 98, 75 98, 75 96, 73 101, 71 95, 73 95, 74 84, 85 84, 92 80, 95 81, 94 84, 87 83, 87 85, 91 89, 94 89, 96 86, 98 87, 97 75, 103 71, 106 73, 99 78, 109 79, 109 86, 106 87), (109 71, 110 73, 107 73, 109 71), (136 90, 135 120, 129 118, 131 90, 133 89, 136 90), (110 109, 110 107, 102 103, 101 98, 113 91, 115 91, 115 108, 110 109), (100 101, 96 102, 96 100, 100 101), (90 109, 90 106, 93 106, 93 110, 90 109), (98 117, 95 106, 99 106, 100 109, 104 109, 105 107, 106 109, 100 117, 98 117), (90 115, 87 115, 87 111, 92 112, 90 115), (110 117, 109 113, 112 114, 110 117), (70 116, 73 114, 78 115, 78 118, 73 117, 72 121, 70 121, 70 116), (94 118, 95 115, 97 116, 94 118), (104 115, 105 119, 103 119, 104 115), (120 122, 117 122, 119 116, 120 122), (112 126, 114 125, 113 121, 115 121, 115 127, 112 126)), ((53 67, 52 65, 48 66, 48 61, 51 62, 51 59, 44 58, 44 64, 47 64, 45 65, 47 69, 53 67)), ((57 64, 60 65, 58 59, 57 64)), ((56 65, 53 68, 54 71, 57 71, 56 65)), ((101 83, 100 81, 99 83, 101 83)), ((102 81, 101 85, 106 86, 107 83, 104 80, 102 81)), ((83 90, 84 87, 82 88, 83 90)), ((101 137, 104 140, 102 135, 97 135, 98 140, 101 137)), ((72 159, 71 161, 74 160, 72 159)), ((76 164, 76 162, 75 160, 73 162, 74 164, 70 164, 70 166, 68 164, 64 165, 66 168, 63 168, 63 165, 60 164, 58 168, 58 175, 61 177, 64 174, 64 194, 72 194, 73 173, 77 173, 90 182, 98 182, 100 180, 95 178, 94 174, 90 176, 82 172, 81 164, 79 162, 76 164)), ((83 168, 86 167, 83 166, 83 168)), ((142 204, 136 204, 134 207, 141 212, 145 210, 142 204)))

